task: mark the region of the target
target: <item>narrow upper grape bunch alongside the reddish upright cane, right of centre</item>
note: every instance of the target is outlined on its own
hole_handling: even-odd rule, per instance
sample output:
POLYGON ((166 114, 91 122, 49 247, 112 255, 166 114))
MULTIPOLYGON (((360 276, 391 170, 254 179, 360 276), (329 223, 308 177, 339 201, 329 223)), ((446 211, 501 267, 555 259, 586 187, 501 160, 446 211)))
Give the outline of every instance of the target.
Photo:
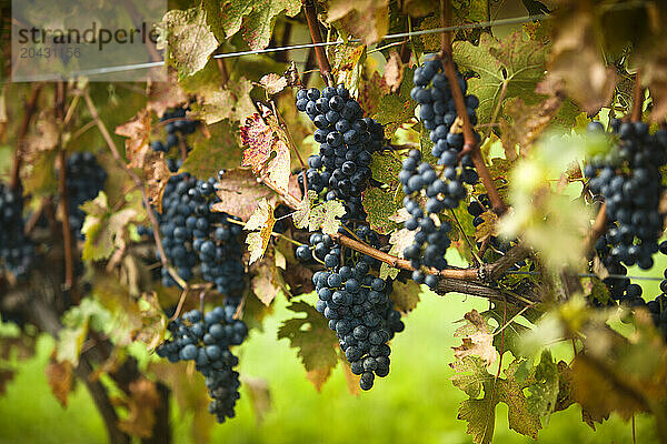
MULTIPOLYGON (((468 117, 472 125, 477 124, 476 109, 479 99, 475 95, 466 95, 468 84, 456 68, 459 87, 465 97, 468 117)), ((438 164, 455 170, 459 164, 459 153, 464 149, 464 134, 450 132, 451 125, 457 118, 456 104, 451 97, 451 89, 447 77, 442 72, 440 59, 426 61, 415 70, 412 78, 415 88, 410 97, 419 103, 419 119, 429 131, 430 140, 434 142, 432 153, 438 158, 438 164)), ((446 173, 452 176, 454 172, 446 173)), ((477 172, 469 160, 462 161, 462 171, 457 174, 466 183, 477 183, 477 172)))

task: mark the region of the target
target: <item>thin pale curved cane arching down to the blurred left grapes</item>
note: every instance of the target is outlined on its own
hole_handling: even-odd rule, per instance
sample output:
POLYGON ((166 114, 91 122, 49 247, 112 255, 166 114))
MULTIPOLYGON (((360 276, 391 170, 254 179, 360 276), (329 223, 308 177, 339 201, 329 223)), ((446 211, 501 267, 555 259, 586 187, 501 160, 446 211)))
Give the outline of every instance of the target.
POLYGON ((118 163, 118 165, 125 170, 125 172, 130 176, 130 179, 135 182, 135 184, 141 190, 141 200, 143 201, 143 206, 146 208, 146 213, 148 214, 148 219, 149 219, 150 225, 152 228, 153 240, 156 242, 156 248, 158 249, 158 253, 160 254, 160 262, 162 263, 162 268, 165 268, 165 270, 167 270, 169 272, 169 275, 176 281, 176 283, 181 289, 186 289, 188 286, 186 281, 183 281, 178 275, 178 273, 173 270, 173 268, 171 268, 169 265, 169 262, 167 261, 167 253, 165 253, 165 249, 162 248, 162 240, 160 236, 160 224, 158 223, 156 213, 150 204, 150 201, 148 200, 148 194, 146 193, 146 186, 143 185, 141 178, 139 178, 139 175, 131 168, 129 168, 128 164, 122 160, 122 157, 120 155, 120 152, 118 151, 118 148, 116 148, 116 143, 113 142, 113 139, 111 139, 111 134, 109 133, 109 130, 107 130, 104 122, 102 122, 102 120, 100 119, 100 114, 98 113, 97 107, 92 102, 92 99, 90 99, 90 94, 88 93, 88 90, 83 90, 82 94, 83 94, 83 100, 86 101, 86 105, 88 107, 88 111, 90 112, 92 120, 96 122, 98 129, 100 130, 100 133, 102 134, 102 138, 104 139, 104 142, 107 142, 107 147, 109 148, 109 151, 111 151, 111 155, 113 157, 113 160, 116 160, 116 163, 118 163))

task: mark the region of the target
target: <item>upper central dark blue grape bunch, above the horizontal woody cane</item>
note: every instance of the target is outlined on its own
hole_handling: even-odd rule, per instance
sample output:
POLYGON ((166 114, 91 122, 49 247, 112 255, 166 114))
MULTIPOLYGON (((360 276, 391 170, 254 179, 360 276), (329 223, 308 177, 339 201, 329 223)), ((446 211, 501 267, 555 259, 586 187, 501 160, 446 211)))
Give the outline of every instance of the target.
MULTIPOLYGON (((344 222, 366 220, 361 192, 371 179, 371 154, 385 147, 385 130, 370 118, 364 118, 359 103, 342 84, 302 89, 297 93, 297 109, 306 112, 317 127, 315 141, 319 154, 308 158, 308 190, 326 200, 339 199, 346 208, 344 222)), ((299 175, 301 188, 303 175, 299 175)))

